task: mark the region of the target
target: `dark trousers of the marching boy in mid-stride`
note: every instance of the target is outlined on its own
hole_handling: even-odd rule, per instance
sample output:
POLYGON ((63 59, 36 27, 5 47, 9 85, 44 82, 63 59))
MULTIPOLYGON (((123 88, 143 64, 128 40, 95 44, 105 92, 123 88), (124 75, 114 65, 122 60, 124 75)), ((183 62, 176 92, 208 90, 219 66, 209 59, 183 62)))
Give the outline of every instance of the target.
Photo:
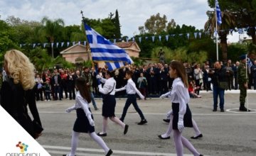
POLYGON ((124 121, 124 117, 126 116, 127 110, 131 104, 134 106, 135 110, 139 113, 140 118, 142 118, 142 120, 144 120, 145 117, 137 104, 136 94, 128 94, 127 101, 125 102, 124 110, 123 110, 123 113, 121 116, 122 121, 124 121))

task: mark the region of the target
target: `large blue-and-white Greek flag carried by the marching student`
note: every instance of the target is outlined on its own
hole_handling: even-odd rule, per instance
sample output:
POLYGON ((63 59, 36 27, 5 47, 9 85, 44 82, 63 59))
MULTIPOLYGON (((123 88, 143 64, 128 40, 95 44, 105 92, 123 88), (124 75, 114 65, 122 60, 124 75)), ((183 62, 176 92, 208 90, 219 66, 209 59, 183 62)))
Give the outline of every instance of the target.
POLYGON ((84 26, 92 53, 92 60, 104 61, 110 71, 123 67, 125 62, 128 64, 133 63, 125 50, 111 43, 110 40, 104 38, 85 23, 84 26))

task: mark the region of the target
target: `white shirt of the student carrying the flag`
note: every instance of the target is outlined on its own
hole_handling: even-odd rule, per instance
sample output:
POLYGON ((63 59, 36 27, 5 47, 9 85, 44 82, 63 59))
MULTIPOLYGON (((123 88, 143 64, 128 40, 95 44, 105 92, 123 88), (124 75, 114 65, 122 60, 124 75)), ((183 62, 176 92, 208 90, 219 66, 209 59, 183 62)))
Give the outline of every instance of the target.
POLYGON ((114 95, 115 94, 115 87, 116 87, 117 82, 114 80, 113 77, 110 77, 109 79, 101 78, 100 81, 102 83, 105 83, 103 88, 102 88, 101 84, 98 86, 100 93, 102 93, 102 94, 109 94, 110 91, 111 91, 110 95, 114 95))

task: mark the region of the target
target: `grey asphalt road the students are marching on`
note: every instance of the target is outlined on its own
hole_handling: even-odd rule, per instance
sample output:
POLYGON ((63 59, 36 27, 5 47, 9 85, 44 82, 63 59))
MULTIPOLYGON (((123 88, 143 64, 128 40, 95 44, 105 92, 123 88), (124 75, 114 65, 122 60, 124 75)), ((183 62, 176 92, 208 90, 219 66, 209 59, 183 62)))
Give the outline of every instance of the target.
MULTIPOLYGON (((225 112, 213 112, 213 96, 201 94, 201 99, 191 99, 190 108, 203 138, 193 140, 193 128, 186 128, 183 136, 188 138, 203 155, 256 155, 256 94, 248 94, 251 112, 239 112, 239 94, 225 94, 225 112)), ((126 99, 117 99, 116 116, 121 116, 126 99)), ((65 113, 74 100, 39 101, 37 103, 45 130, 38 138, 50 155, 70 152, 71 133, 76 118, 75 111, 65 113)), ((101 99, 97 99, 99 111, 92 110, 96 133, 102 129, 101 99)), ((113 155, 176 155, 174 140, 160 140, 157 135, 164 133, 167 124, 162 121, 171 108, 169 99, 138 100, 148 123, 138 126, 139 114, 130 106, 124 123, 129 125, 127 135, 123 129, 109 121, 105 143, 114 151, 113 155)), ((103 150, 86 133, 80 134, 76 155, 104 155, 103 150)), ((186 148, 184 154, 192 155, 186 148)))

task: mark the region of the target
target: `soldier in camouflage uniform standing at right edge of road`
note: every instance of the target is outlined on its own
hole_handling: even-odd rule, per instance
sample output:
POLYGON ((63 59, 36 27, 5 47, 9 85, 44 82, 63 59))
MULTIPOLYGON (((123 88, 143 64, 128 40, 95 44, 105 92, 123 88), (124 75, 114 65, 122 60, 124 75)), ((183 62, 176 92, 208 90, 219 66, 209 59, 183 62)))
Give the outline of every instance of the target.
POLYGON ((245 98, 248 89, 248 77, 246 75, 246 55, 240 56, 240 65, 238 66, 238 84, 240 89, 240 108, 239 111, 250 111, 245 107, 245 98))

